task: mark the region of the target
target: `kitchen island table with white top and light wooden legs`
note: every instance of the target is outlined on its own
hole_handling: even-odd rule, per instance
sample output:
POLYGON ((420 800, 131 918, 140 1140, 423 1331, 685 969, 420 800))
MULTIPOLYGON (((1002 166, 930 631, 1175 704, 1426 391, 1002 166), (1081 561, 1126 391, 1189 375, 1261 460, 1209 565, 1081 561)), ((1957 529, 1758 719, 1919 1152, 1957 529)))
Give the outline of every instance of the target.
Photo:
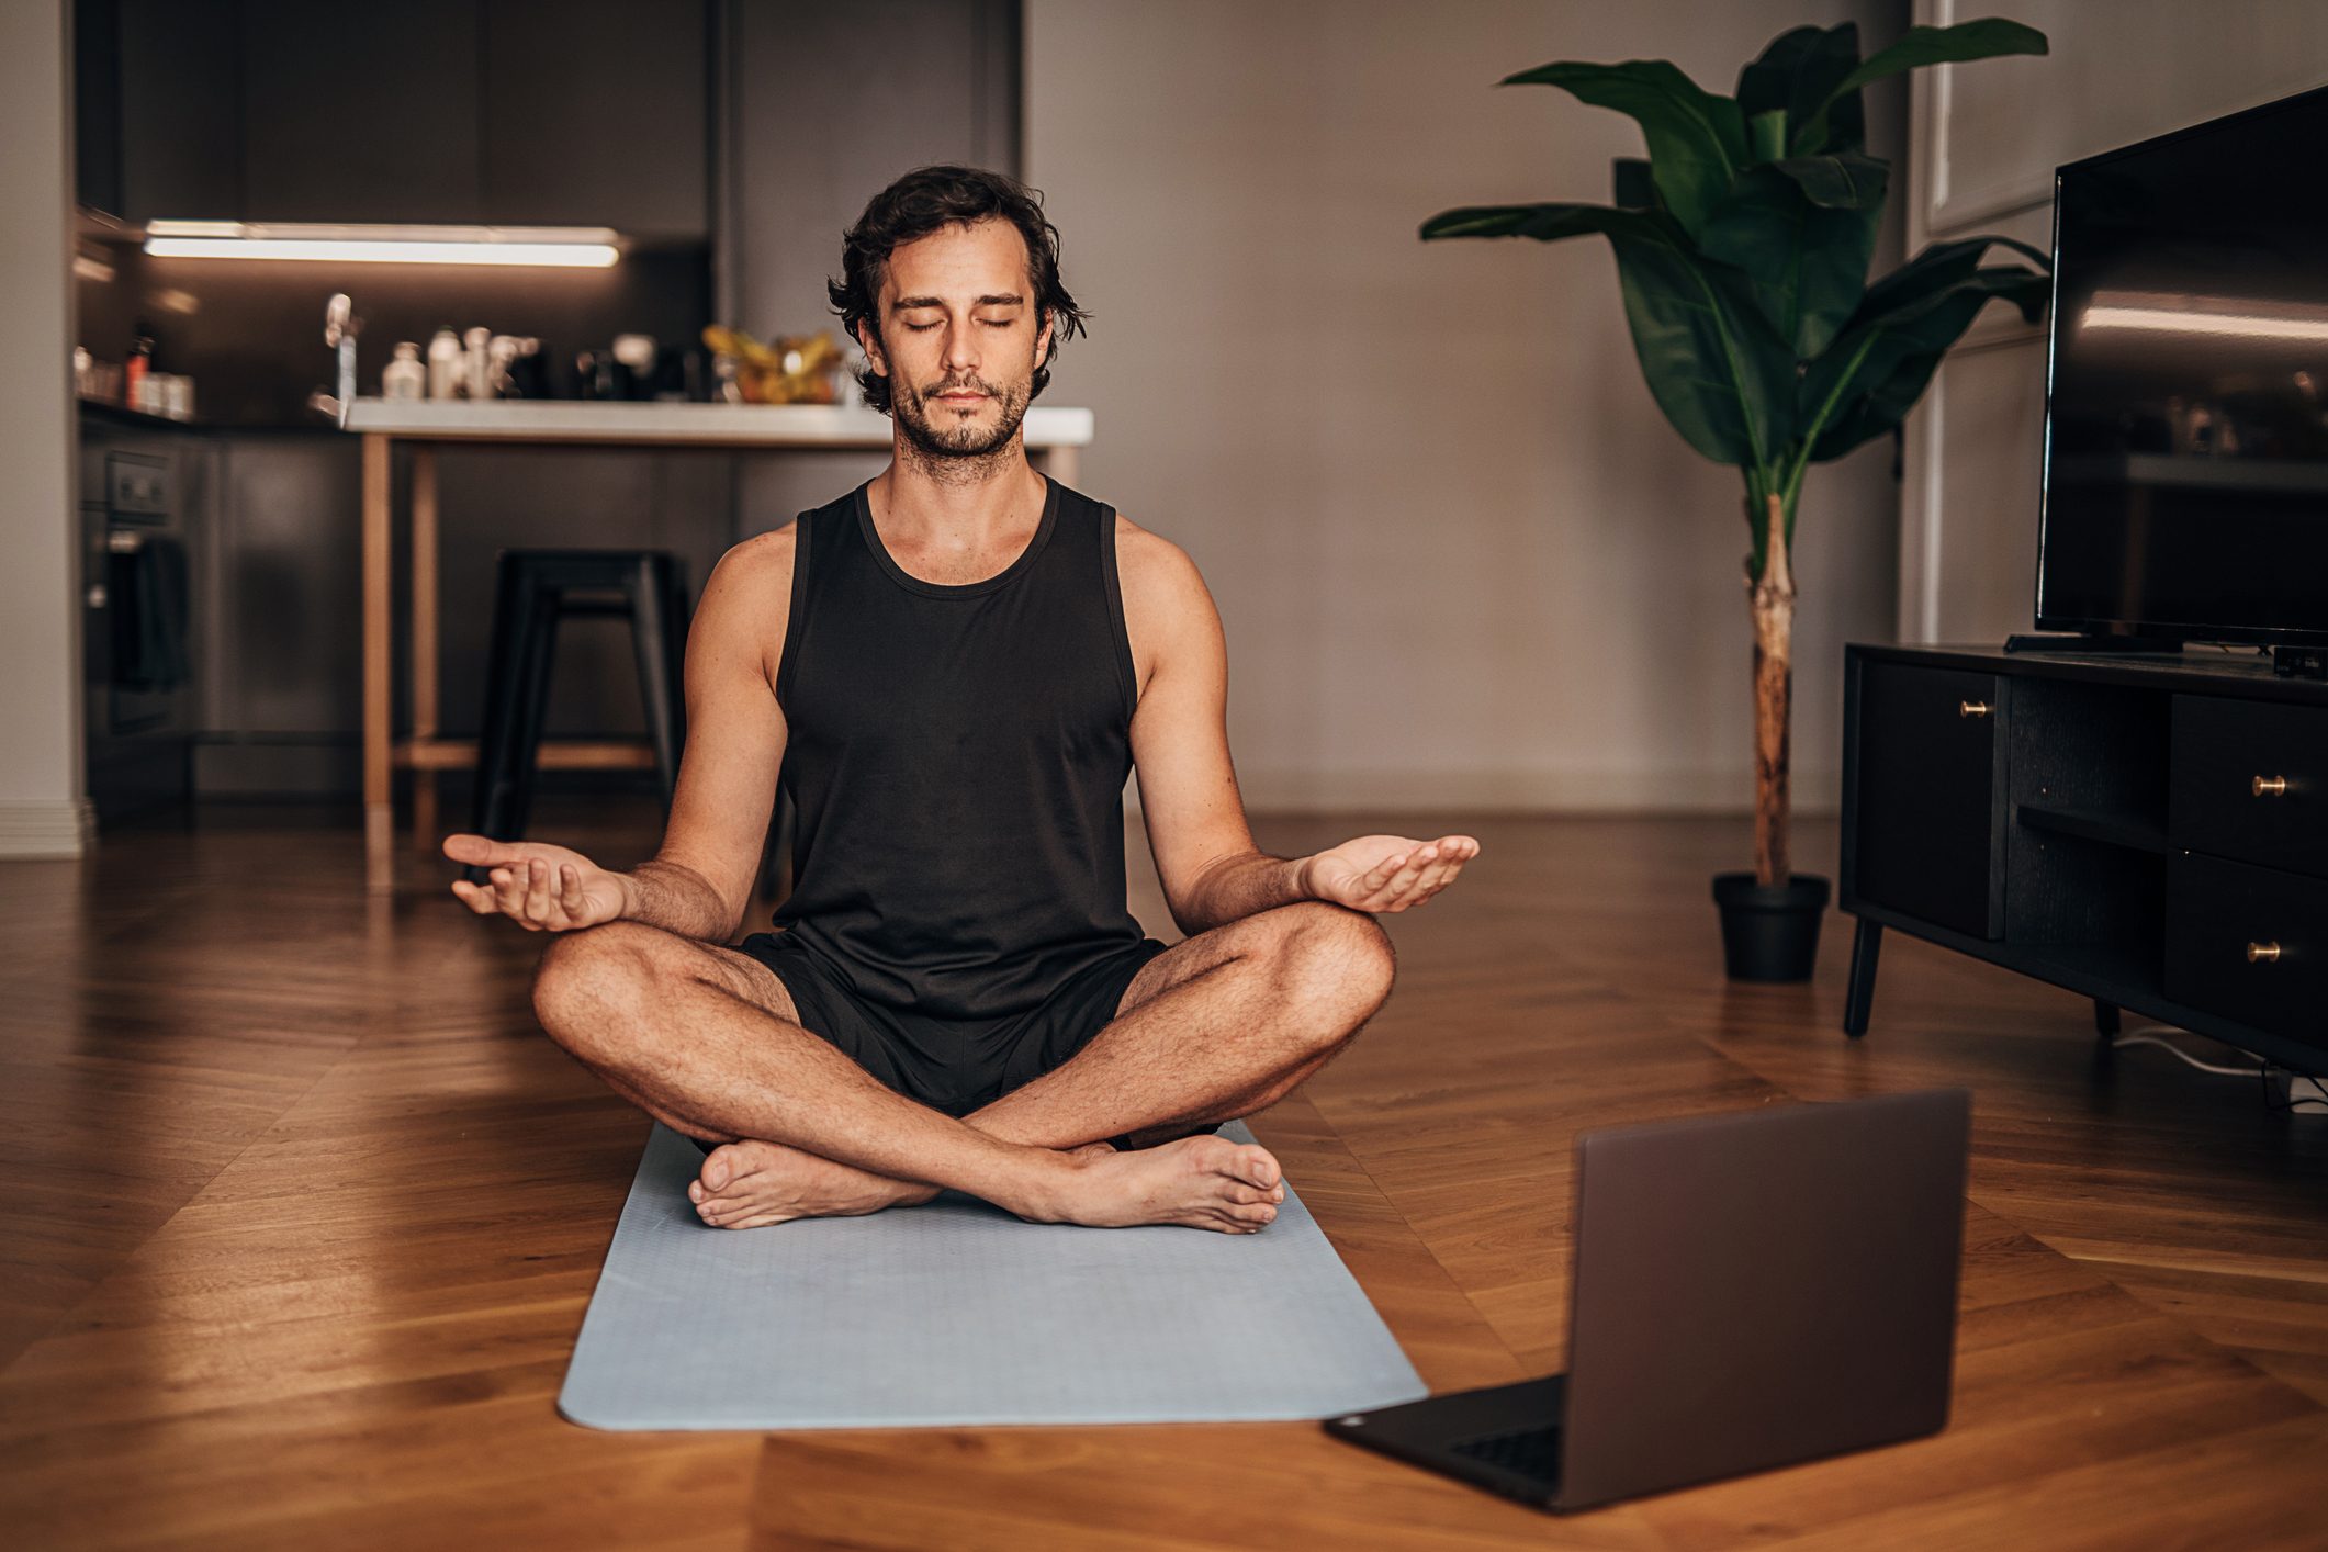
MULTIPOLYGON (((435 852, 433 773, 473 766, 473 740, 438 738, 438 470, 435 454, 454 444, 491 447, 701 447, 731 451, 887 451, 892 423, 854 405, 694 405, 663 400, 386 400, 359 398, 345 430, 363 437, 363 861, 372 889, 396 882, 393 775, 412 770, 412 826, 435 852), (412 507, 412 735, 389 726, 389 610, 396 561, 393 454, 410 456, 412 507)), ((1092 440, 1090 410, 1029 410, 1022 437, 1034 465, 1076 484, 1076 454, 1092 440)), ((556 742, 540 747, 547 768, 652 770, 654 754, 633 742, 556 742)))

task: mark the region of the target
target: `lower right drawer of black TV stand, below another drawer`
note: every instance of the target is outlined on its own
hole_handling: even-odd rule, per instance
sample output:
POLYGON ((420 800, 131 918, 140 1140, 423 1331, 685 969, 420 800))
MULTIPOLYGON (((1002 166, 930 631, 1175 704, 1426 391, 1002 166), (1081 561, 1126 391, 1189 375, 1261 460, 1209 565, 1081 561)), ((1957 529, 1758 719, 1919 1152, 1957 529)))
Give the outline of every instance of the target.
POLYGON ((2177 852, 2163 991, 2174 1003, 2328 1045, 2328 882, 2177 852))

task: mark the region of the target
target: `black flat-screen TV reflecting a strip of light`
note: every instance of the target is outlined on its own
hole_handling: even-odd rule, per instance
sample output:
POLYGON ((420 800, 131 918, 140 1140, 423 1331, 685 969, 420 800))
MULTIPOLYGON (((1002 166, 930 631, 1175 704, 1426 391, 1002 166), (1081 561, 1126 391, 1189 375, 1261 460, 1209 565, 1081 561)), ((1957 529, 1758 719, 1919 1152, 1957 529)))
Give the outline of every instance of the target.
POLYGON ((2056 170, 2037 628, 2328 645, 2328 86, 2056 170))

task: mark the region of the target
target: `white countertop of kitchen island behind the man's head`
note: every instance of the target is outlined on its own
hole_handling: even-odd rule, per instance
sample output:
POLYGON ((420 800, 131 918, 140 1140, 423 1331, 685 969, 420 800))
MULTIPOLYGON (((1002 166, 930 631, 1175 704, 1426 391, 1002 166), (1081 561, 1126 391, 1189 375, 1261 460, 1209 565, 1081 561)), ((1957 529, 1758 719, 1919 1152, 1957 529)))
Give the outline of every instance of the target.
MULTIPOLYGON (((889 417, 843 405, 691 405, 584 398, 359 398, 347 430, 431 442, 638 442, 724 447, 889 447, 889 417)), ((1027 447, 1087 447, 1090 410, 1034 407, 1027 447)))

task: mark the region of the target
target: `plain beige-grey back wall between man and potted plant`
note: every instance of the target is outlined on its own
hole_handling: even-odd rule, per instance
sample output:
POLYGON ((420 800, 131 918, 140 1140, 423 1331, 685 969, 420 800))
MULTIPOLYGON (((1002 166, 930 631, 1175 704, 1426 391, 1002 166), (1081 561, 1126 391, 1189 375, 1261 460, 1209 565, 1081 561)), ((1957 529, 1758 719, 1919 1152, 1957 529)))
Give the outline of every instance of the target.
MULTIPOLYGON (((1734 470, 1665 423, 1609 249, 1420 242, 1453 205, 1606 200, 1630 119, 1557 58, 1713 91, 1781 30, 1895 0, 1173 0, 1027 7, 1027 172, 1096 316, 1052 393, 1083 484, 1183 544, 1229 635, 1255 807, 1667 810, 1753 796, 1734 470)), ((1876 154, 1904 88, 1869 91, 1876 154)), ((1876 265, 1897 261, 1897 212, 1876 265)), ((1893 447, 1800 526, 1795 770, 1832 803, 1841 642, 1895 612, 1893 447)))

